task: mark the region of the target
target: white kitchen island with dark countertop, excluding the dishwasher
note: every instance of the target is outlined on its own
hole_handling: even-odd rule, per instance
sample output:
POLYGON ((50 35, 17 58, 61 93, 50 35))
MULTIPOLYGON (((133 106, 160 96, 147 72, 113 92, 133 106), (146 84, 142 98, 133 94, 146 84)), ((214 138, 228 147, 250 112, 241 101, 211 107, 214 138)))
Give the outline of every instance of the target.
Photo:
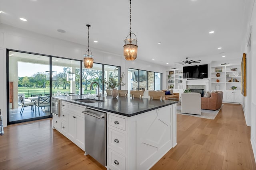
POLYGON ((106 112, 108 169, 149 169, 176 145, 176 101, 95 95, 52 98, 61 100, 61 114, 53 115, 53 128, 83 150, 81 112, 86 108, 106 112), (84 103, 80 99, 100 102, 84 103), (70 123, 74 117, 76 122, 70 123))

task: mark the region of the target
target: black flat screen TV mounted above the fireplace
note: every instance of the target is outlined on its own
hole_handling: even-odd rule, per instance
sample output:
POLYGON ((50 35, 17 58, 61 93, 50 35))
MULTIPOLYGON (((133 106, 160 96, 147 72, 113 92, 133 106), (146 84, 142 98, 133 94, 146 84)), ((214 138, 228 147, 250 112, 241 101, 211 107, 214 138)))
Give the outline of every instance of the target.
POLYGON ((208 78, 208 64, 184 66, 183 78, 208 78))

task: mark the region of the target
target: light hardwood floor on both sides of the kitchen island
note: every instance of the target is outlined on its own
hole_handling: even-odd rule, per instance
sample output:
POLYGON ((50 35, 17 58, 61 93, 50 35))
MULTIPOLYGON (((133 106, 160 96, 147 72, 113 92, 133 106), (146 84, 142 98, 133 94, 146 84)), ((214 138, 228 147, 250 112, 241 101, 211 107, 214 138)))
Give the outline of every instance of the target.
MULTIPOLYGON (((104 170, 56 130, 51 119, 12 125, 0 136, 0 170, 104 170)), ((177 143, 152 170, 256 170, 241 105, 214 120, 177 115, 177 143)))

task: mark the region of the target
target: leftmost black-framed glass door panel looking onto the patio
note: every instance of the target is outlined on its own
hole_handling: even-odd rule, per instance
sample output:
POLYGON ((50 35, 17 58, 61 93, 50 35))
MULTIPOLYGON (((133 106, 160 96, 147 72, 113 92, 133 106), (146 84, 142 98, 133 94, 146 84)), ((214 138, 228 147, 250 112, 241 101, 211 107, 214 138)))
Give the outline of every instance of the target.
POLYGON ((39 111, 36 105, 38 96, 50 94, 45 78, 50 70, 50 57, 8 51, 8 59, 8 124, 50 117, 50 104, 39 111))

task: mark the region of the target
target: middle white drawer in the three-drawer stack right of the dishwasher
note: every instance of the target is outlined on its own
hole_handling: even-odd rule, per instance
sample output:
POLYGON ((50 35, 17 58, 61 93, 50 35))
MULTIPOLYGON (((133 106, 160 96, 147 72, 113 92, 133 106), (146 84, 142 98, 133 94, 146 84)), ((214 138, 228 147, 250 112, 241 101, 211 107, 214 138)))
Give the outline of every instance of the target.
POLYGON ((125 134, 120 133, 114 129, 108 128, 108 145, 112 147, 112 149, 116 150, 118 153, 125 154, 125 134))

